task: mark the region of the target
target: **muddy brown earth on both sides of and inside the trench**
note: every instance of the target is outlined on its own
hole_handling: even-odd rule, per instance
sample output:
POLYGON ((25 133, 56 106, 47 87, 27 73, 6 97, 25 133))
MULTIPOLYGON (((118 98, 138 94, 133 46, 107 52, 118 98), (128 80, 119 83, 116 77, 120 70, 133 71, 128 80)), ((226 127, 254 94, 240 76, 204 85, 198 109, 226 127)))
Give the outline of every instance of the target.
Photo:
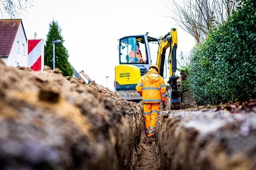
POLYGON ((145 137, 142 104, 95 82, 0 60, 0 169, 254 170, 256 101, 162 111, 145 137))

